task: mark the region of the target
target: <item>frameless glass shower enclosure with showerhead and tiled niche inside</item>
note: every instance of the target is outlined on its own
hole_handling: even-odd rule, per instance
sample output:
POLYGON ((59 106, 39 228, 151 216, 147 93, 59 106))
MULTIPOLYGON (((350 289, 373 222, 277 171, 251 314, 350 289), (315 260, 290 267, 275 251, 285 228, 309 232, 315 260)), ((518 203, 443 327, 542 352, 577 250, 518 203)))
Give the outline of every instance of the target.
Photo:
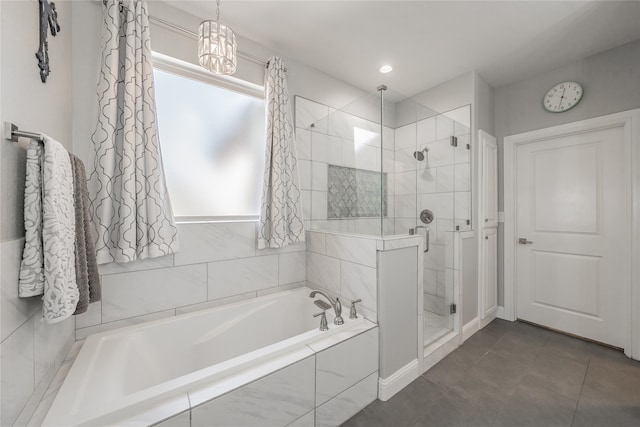
POLYGON ((305 226, 423 236, 425 346, 454 328, 455 232, 471 228, 470 106, 437 112, 379 87, 334 109, 296 97, 305 226))

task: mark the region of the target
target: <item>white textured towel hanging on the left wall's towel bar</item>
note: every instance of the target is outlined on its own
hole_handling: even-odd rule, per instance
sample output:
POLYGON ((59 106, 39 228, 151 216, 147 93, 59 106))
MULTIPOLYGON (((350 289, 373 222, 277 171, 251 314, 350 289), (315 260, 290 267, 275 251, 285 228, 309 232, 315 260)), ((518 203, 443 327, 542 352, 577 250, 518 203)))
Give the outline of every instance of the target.
POLYGON ((19 295, 43 295, 42 314, 57 323, 73 314, 79 292, 75 272, 75 214, 69 153, 44 136, 27 151, 25 247, 19 295))

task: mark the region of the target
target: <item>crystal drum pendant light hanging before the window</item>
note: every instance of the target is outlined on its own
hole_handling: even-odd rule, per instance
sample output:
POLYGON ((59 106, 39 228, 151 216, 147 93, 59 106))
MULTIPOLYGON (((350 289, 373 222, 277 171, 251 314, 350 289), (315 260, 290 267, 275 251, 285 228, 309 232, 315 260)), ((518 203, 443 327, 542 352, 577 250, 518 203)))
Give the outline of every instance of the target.
POLYGON ((200 24, 198 58, 200 65, 213 73, 231 75, 236 72, 236 35, 220 23, 220 0, 217 0, 216 20, 200 24))

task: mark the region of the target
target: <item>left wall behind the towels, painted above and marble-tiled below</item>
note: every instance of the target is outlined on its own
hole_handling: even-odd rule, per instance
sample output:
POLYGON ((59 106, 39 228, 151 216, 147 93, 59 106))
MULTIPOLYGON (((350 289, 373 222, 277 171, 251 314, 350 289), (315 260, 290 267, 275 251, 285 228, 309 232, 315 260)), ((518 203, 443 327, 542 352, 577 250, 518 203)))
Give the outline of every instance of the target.
MULTIPOLYGON (((39 41, 38 2, 0 3, 0 109, 2 120, 24 130, 47 133, 71 149, 71 3, 59 1, 56 6, 62 30, 56 37, 49 36, 51 74, 43 84, 34 55, 39 41)), ((17 295, 24 245, 27 144, 0 141, 3 426, 12 425, 21 412, 21 419, 28 419, 34 409, 28 402, 37 402, 73 342, 73 319, 47 325, 40 321, 40 298, 21 299, 17 295)))

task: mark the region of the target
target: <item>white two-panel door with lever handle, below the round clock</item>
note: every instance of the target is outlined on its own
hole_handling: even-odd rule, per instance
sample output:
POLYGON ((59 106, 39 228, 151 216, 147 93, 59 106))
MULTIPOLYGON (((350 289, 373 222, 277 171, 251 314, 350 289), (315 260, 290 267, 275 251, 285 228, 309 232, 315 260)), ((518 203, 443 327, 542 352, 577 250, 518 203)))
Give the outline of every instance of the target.
POLYGON ((516 148, 516 316, 624 347, 622 127, 516 148))

